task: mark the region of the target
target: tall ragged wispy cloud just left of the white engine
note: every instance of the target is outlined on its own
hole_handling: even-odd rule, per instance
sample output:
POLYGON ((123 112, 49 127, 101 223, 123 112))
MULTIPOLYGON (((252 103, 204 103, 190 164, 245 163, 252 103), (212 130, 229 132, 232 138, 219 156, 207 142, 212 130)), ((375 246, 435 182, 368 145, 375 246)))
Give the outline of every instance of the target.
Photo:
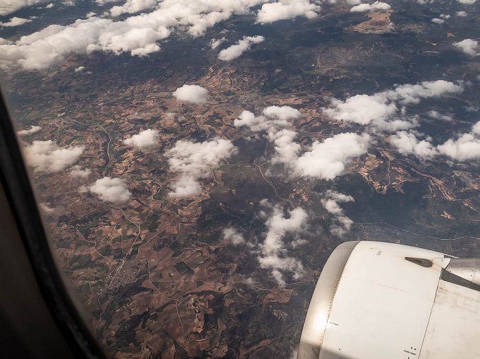
POLYGON ((278 204, 272 206, 263 201, 271 213, 265 214, 267 234, 264 242, 260 245, 261 256, 259 262, 262 268, 272 270, 278 286, 285 286, 283 273, 293 273, 293 278, 298 279, 304 275, 305 270, 300 260, 287 256, 283 237, 287 234, 298 235, 307 229, 308 215, 305 210, 298 207, 288 211, 288 218, 283 213, 283 208, 278 204))

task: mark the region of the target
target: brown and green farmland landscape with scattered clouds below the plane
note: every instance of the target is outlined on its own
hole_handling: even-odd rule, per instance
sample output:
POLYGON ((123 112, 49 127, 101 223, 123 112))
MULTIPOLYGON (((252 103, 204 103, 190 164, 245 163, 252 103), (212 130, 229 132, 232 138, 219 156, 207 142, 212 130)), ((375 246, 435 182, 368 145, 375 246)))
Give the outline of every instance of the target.
POLYGON ((0 6, 3 96, 111 358, 296 358, 333 249, 480 255, 475 0, 0 6))

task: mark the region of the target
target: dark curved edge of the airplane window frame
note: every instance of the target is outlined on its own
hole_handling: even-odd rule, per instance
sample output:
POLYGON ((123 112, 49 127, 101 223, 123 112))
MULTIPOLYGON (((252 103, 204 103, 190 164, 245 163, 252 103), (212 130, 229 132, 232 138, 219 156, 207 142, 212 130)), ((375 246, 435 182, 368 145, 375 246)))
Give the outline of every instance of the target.
POLYGON ((10 207, 16 222, 13 225, 16 225, 21 236, 40 293, 67 345, 77 358, 106 358, 75 307, 53 259, 47 232, 2 90, 0 90, 0 182, 8 202, 0 203, 0 206, 10 207))

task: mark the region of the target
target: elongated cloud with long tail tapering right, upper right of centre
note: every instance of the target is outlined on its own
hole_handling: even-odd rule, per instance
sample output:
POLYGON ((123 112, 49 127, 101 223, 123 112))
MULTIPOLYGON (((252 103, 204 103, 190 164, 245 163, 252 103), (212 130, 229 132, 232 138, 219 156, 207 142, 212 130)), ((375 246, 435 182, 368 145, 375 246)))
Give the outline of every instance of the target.
POLYGON ((345 101, 332 99, 331 107, 324 108, 323 112, 337 121, 372 125, 376 129, 392 132, 418 125, 415 116, 397 116, 399 105, 415 105, 420 99, 462 91, 461 86, 444 80, 399 85, 394 90, 377 92, 374 95, 355 95, 345 101))

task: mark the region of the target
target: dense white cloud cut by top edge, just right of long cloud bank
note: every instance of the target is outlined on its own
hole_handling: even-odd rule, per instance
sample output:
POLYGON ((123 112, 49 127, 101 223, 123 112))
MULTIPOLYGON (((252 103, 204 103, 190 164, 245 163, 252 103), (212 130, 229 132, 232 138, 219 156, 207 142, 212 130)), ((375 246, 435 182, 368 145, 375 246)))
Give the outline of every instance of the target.
POLYGON ((275 3, 265 3, 256 16, 256 22, 274 23, 279 20, 287 20, 298 16, 315 18, 320 12, 320 6, 309 0, 280 0, 275 3))

